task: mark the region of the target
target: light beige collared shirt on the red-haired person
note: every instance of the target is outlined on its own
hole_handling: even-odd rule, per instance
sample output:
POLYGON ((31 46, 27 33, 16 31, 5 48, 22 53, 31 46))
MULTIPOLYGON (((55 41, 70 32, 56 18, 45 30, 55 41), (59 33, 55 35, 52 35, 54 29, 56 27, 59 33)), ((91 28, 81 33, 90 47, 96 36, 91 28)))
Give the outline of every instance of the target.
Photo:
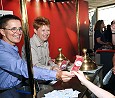
MULTIPOLYGON (((51 69, 51 66, 56 65, 49 56, 48 41, 43 42, 36 34, 30 39, 32 62, 41 68, 51 69)), ((25 58, 24 46, 22 48, 22 58, 25 58)))

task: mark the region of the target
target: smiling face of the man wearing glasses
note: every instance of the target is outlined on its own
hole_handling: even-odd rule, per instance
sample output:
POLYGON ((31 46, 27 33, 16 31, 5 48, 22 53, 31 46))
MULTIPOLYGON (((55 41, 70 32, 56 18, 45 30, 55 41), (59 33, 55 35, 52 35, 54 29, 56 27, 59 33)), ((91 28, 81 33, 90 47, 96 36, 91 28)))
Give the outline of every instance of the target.
POLYGON ((3 40, 11 45, 19 43, 22 38, 22 27, 19 20, 9 20, 6 27, 1 30, 3 40))

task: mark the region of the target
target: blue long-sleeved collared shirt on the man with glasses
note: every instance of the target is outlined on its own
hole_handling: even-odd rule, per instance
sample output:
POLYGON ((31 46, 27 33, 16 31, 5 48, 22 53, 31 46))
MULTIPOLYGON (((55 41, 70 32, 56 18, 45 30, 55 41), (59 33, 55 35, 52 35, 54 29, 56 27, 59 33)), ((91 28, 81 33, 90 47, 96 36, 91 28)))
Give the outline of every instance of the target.
MULTIPOLYGON (((20 57, 17 46, 12 46, 0 39, 0 90, 14 87, 21 82, 3 69, 28 78, 27 63, 20 57)), ((56 79, 56 71, 34 66, 33 72, 35 79, 56 79)))

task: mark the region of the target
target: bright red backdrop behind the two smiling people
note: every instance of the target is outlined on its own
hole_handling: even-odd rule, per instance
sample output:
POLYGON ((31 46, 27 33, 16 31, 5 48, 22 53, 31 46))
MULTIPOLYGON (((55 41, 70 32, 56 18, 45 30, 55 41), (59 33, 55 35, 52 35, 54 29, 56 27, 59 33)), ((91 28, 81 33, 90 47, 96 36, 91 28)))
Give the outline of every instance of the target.
MULTIPOLYGON (((11 10, 21 18, 20 0, 2 0, 3 9, 11 10)), ((76 26, 76 7, 75 1, 69 2, 27 2, 29 35, 33 35, 32 22, 37 16, 47 17, 51 22, 51 35, 49 38, 50 55, 56 58, 58 48, 62 47, 62 53, 73 62, 78 50, 77 26, 76 26)), ((88 3, 79 0, 80 4, 80 45, 88 48, 88 3), (85 22, 86 21, 86 22, 85 22)), ((0 9, 2 7, 0 6, 0 9)), ((18 44, 19 52, 23 45, 23 39, 18 44)))

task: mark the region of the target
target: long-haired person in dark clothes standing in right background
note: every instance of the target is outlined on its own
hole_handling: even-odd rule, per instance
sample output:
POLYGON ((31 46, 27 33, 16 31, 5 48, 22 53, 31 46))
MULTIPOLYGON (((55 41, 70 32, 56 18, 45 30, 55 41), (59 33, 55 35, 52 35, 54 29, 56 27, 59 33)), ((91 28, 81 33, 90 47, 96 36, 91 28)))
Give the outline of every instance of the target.
POLYGON ((94 27, 94 51, 101 48, 103 45, 108 45, 104 36, 105 25, 103 20, 98 20, 94 27))

